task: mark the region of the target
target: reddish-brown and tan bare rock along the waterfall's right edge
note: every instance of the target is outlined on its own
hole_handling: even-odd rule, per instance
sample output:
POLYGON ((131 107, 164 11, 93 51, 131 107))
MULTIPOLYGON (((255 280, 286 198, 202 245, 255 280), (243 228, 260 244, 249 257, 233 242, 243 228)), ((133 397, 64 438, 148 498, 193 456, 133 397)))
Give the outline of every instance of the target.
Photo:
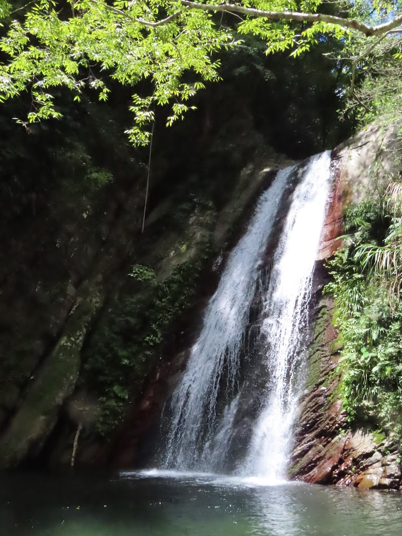
POLYGON ((394 171, 395 150, 394 132, 373 125, 333 152, 334 189, 314 277, 309 374, 289 469, 296 480, 392 489, 399 489, 402 483, 397 445, 368 430, 348 429, 339 397, 339 352, 334 345, 337 333, 331 324, 332 302, 322 296, 329 280, 323 259, 341 243, 343 208, 378 195, 378 182, 394 171))

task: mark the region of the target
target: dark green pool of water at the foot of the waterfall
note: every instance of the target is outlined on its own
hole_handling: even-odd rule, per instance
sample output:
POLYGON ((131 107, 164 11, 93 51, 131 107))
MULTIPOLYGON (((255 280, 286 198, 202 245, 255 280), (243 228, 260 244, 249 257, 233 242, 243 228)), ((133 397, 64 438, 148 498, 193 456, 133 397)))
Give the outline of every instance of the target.
POLYGON ((212 477, 1 478, 2 536, 401 536, 402 494, 212 477))

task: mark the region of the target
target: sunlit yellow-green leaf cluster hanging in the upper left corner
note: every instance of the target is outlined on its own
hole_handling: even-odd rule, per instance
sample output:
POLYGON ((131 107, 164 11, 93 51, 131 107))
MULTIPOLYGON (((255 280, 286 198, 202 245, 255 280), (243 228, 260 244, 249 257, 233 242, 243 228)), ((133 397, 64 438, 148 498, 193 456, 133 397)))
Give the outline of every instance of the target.
POLYGON ((28 121, 59 117, 52 88, 66 86, 75 100, 85 87, 106 100, 108 80, 133 87, 134 143, 146 144, 146 127, 155 105, 171 105, 168 124, 182 118, 187 101, 204 81, 219 78, 214 51, 234 44, 227 28, 212 14, 189 11, 166 24, 150 26, 172 16, 172 2, 103 0, 36 2, 21 19, 12 20, 0 41, 9 60, 0 64, 0 99, 29 92, 28 121))

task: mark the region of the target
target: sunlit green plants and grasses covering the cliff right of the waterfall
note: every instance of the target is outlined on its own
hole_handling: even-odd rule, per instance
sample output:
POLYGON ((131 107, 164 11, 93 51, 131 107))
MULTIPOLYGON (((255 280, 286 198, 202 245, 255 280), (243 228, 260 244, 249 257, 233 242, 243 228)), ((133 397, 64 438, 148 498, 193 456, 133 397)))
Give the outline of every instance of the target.
POLYGON ((402 437, 401 214, 385 195, 349 209, 346 222, 347 246, 329 262, 326 287, 337 311, 343 404, 350 422, 402 437), (394 264, 384 265, 389 255, 394 264))

